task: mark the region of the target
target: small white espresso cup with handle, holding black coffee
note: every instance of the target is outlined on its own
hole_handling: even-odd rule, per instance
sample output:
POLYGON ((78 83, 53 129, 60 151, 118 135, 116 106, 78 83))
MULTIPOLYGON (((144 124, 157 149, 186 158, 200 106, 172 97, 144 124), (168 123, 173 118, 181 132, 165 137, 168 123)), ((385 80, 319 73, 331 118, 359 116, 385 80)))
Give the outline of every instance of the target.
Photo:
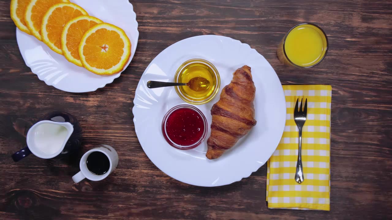
POLYGON ((118 154, 116 150, 114 150, 114 148, 106 144, 98 145, 96 148, 87 151, 82 156, 82 159, 80 159, 80 164, 79 164, 80 171, 79 173, 76 173, 72 177, 72 180, 75 183, 78 183, 85 178, 92 181, 103 180, 107 176, 109 176, 109 174, 111 174, 114 171, 114 169, 116 169, 117 164, 118 164, 118 154), (94 153, 94 152, 100 152, 100 153, 94 153), (91 153, 94 153, 94 155, 98 155, 98 156, 91 155, 91 153), (101 153, 103 153, 107 157, 107 159, 109 160, 109 164, 107 164, 106 158, 101 153), (96 172, 97 170, 100 172, 102 171, 102 174, 96 172), (98 174, 94 173, 94 171, 98 174))

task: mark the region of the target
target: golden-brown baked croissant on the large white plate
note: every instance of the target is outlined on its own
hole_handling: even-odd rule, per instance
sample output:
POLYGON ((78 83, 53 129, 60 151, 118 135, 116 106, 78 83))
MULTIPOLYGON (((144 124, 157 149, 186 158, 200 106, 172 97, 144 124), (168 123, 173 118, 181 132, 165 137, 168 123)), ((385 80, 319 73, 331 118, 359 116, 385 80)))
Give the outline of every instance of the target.
POLYGON ((253 105, 255 92, 250 67, 245 65, 237 69, 230 84, 223 88, 219 101, 211 108, 208 159, 220 157, 256 125, 253 105))

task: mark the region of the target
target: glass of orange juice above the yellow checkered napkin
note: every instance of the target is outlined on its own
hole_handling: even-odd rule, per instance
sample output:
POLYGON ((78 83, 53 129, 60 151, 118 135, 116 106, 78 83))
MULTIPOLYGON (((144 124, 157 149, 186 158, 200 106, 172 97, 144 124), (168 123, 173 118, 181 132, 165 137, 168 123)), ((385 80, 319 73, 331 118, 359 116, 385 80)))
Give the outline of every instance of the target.
POLYGON ((325 32, 312 23, 300 23, 290 29, 280 41, 277 54, 288 66, 314 67, 327 54, 328 38, 325 32))

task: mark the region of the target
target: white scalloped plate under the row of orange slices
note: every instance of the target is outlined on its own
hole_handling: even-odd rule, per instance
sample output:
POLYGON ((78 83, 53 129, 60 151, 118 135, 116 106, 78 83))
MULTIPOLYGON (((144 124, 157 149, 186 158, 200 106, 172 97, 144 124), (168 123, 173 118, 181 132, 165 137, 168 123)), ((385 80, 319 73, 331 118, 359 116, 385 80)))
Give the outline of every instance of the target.
MULTIPOLYGON (((71 2, 83 7, 89 15, 101 19, 103 22, 112 23, 122 28, 131 40, 131 58, 136 51, 139 32, 138 22, 133 6, 128 0, 71 0, 71 2)), ((64 56, 52 51, 43 42, 25 32, 16 29, 16 40, 20 53, 31 72, 53 86, 65 92, 92 92, 98 88, 112 83, 121 74, 111 76, 99 76, 83 67, 78 67, 67 61, 64 56)), ((123 71, 122 70, 122 71, 123 71)))

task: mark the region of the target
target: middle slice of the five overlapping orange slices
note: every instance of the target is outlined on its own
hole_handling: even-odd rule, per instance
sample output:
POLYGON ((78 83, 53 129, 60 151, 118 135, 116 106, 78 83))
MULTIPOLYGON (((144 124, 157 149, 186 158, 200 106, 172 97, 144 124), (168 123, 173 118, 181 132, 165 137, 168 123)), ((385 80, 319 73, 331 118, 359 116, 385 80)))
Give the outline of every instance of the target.
POLYGON ((59 3, 53 5, 42 18, 42 41, 54 52, 63 54, 61 34, 65 24, 73 18, 86 14, 87 12, 82 7, 73 3, 59 3))

